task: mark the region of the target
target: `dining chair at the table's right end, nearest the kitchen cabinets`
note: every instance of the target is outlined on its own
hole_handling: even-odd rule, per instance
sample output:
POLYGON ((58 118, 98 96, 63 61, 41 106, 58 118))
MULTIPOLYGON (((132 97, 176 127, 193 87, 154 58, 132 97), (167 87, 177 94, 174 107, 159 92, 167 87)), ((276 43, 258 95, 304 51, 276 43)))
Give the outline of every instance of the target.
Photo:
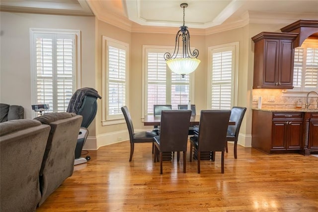
POLYGON ((235 121, 235 125, 229 125, 227 133, 227 142, 225 144, 225 151, 228 150, 228 141, 234 141, 234 158, 238 158, 237 147, 238 147, 238 138, 239 138, 239 128, 242 123, 246 107, 234 106, 231 109, 230 120, 235 121))

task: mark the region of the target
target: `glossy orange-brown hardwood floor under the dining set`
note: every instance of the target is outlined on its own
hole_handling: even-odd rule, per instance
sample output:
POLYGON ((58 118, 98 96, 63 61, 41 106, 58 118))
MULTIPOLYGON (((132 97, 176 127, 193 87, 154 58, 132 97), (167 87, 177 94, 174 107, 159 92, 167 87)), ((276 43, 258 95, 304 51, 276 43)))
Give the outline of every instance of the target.
MULTIPOLYGON (((318 211, 318 158, 300 154, 266 155, 233 144, 215 162, 153 162, 151 143, 135 144, 129 162, 128 141, 89 151, 91 160, 75 166, 72 177, 37 209, 45 211, 318 211)), ((189 149, 189 148, 188 148, 189 149)), ((181 153, 182 155, 182 153, 181 153)), ((175 155, 176 156, 176 155, 175 155)))

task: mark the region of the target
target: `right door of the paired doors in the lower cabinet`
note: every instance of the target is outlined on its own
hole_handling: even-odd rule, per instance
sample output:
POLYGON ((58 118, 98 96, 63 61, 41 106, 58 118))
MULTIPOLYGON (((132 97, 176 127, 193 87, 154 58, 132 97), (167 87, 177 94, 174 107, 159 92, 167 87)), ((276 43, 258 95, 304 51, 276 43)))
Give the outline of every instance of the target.
POLYGON ((303 121, 289 121, 287 127, 287 149, 301 149, 303 121))

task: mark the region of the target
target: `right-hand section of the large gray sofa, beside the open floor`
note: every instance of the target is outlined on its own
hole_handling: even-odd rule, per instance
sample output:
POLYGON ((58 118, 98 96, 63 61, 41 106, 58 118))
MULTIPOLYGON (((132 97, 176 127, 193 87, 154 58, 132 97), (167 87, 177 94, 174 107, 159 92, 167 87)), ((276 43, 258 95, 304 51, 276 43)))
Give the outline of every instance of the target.
POLYGON ((46 113, 34 119, 51 126, 40 170, 41 206, 50 194, 73 174, 75 147, 82 116, 56 112, 46 113))

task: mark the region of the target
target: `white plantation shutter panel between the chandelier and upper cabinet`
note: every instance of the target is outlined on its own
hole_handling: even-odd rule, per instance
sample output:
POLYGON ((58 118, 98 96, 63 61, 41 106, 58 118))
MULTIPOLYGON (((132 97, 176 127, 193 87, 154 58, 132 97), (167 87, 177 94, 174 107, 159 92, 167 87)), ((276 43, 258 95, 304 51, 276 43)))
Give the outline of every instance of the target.
POLYGON ((211 108, 231 109, 232 50, 214 50, 211 70, 211 108))

